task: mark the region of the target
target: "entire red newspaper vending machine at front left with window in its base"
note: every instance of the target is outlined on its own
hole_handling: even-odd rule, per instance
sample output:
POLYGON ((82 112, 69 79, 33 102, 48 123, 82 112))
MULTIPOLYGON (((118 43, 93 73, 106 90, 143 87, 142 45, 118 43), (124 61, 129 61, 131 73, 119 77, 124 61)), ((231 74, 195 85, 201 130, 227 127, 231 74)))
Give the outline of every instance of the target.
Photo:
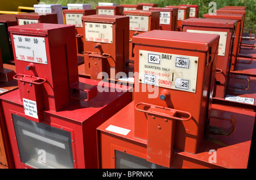
POLYGON ((79 78, 75 26, 9 31, 19 89, 0 98, 15 167, 98 168, 96 127, 131 101, 127 87, 79 78))

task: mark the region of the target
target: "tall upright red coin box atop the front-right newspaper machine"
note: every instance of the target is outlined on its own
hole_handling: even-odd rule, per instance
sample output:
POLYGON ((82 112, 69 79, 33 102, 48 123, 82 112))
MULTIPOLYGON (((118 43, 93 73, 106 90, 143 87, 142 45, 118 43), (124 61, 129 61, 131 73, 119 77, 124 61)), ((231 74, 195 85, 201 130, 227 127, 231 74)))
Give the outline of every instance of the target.
POLYGON ((175 116, 171 120, 174 130, 168 133, 175 135, 172 143, 176 149, 196 153, 211 106, 218 40, 219 35, 161 30, 133 37, 134 72, 138 72, 134 77, 134 137, 148 140, 152 115, 175 116))

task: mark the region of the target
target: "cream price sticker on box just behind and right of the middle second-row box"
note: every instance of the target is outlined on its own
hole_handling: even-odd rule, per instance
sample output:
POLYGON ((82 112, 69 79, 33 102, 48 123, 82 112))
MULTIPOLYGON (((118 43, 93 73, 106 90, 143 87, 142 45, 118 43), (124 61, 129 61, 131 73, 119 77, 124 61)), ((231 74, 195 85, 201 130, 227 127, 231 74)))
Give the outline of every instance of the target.
POLYGON ((130 30, 148 31, 148 16, 127 15, 130 18, 130 30))

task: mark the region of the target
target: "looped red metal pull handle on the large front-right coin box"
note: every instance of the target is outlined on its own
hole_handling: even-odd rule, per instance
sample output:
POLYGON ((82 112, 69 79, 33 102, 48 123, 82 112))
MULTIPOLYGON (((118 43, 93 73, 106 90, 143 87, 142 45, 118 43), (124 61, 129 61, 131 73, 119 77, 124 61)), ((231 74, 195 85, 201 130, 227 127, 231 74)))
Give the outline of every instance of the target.
POLYGON ((146 112, 148 114, 152 114, 153 113, 155 115, 163 116, 164 118, 170 118, 170 119, 181 120, 181 121, 187 121, 187 120, 190 120, 192 118, 192 115, 189 112, 175 110, 175 109, 168 108, 168 107, 163 107, 163 106, 155 106, 153 104, 147 104, 147 103, 137 103, 135 105, 135 109, 137 111, 140 111, 140 112, 146 112), (144 105, 144 106, 147 106, 147 107, 154 107, 154 108, 162 108, 162 109, 165 109, 165 110, 170 110, 172 112, 175 111, 175 112, 178 112, 179 114, 188 115, 188 118, 178 118, 178 117, 175 117, 175 116, 171 116, 169 114, 163 114, 161 112, 150 112, 150 111, 147 111, 147 110, 142 110, 142 109, 138 108, 139 105, 144 105))

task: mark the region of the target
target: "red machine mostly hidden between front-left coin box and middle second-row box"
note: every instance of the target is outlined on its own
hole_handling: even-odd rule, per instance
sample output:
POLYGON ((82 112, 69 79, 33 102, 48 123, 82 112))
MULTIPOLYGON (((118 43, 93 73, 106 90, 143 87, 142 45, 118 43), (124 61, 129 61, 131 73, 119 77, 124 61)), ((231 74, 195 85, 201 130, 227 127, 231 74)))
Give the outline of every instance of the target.
POLYGON ((95 9, 68 9, 63 10, 65 24, 76 26, 76 47, 78 64, 84 63, 84 28, 82 27, 82 16, 96 14, 95 9))

